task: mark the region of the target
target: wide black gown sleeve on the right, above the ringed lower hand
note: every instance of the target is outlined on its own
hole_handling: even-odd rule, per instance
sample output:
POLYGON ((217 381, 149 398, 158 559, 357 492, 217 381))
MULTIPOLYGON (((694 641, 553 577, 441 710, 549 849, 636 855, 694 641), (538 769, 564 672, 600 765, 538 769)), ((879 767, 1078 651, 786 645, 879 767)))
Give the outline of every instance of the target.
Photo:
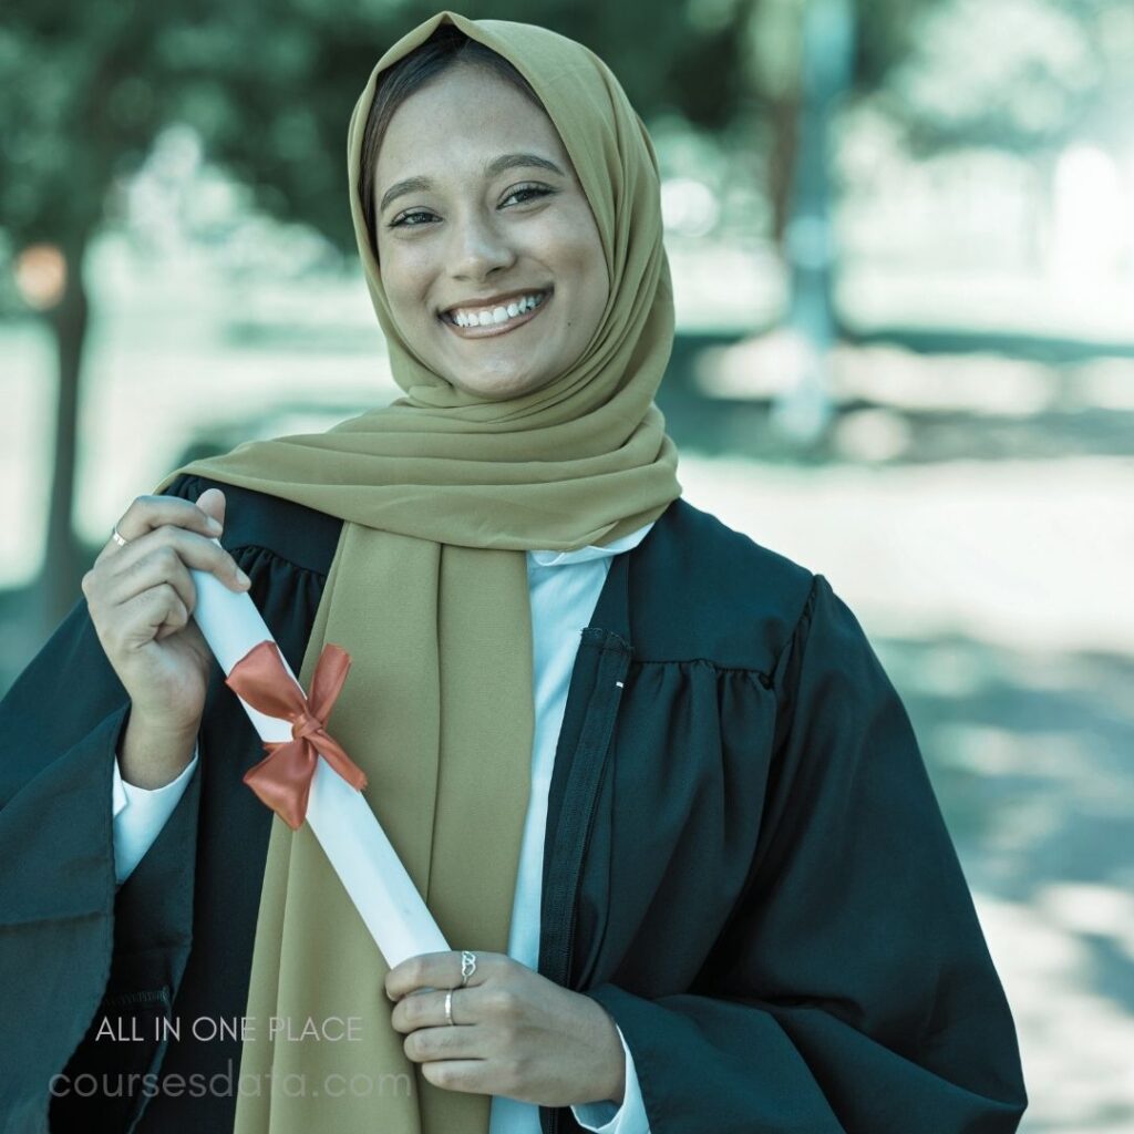
POLYGON ((773 682, 761 833, 694 988, 586 992, 651 1131, 1015 1131, 1015 1027, 960 864, 905 708, 821 575, 773 682))

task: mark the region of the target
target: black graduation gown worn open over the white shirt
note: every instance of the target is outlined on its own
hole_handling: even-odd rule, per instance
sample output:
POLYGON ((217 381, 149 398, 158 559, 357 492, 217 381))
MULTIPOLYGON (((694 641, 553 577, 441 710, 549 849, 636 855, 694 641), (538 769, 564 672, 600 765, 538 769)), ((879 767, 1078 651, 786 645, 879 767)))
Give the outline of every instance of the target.
MULTIPOLYGON (((222 542, 298 672, 339 522, 220 486, 222 542)), ((231 1127, 239 1040, 191 1023, 244 1013, 271 813, 222 677, 117 889, 129 703, 85 600, 0 702, 2 1132, 48 1129, 49 1107, 57 1132, 231 1127)), ((618 1023, 652 1134, 1017 1128, 1012 1015, 891 683, 821 575, 684 500, 615 558, 582 634, 540 913, 539 971, 618 1023)))

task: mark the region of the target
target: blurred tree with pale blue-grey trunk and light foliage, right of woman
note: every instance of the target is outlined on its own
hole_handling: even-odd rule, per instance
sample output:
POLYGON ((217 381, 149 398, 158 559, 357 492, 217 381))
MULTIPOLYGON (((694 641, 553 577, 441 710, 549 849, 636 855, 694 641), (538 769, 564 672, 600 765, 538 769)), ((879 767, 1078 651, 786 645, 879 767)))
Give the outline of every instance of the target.
POLYGON ((773 421, 797 442, 831 418, 829 153, 836 116, 873 101, 912 158, 954 149, 1027 153, 1048 176, 1073 138, 1125 146, 1134 113, 1127 0, 754 0, 748 86, 767 132, 772 236, 790 281, 797 361, 773 421), (1122 124, 1122 126, 1120 126, 1122 124))

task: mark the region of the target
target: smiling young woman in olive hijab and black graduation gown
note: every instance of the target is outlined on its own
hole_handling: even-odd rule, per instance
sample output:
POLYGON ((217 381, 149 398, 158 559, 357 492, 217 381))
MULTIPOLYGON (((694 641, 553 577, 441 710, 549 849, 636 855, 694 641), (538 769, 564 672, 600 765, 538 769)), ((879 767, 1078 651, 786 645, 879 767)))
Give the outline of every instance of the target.
POLYGON ((348 170, 405 396, 135 500, 0 708, 0 1127, 1014 1131, 892 685, 822 576, 680 498, 617 81, 441 12, 374 68, 348 170), (329 731, 452 951, 387 971, 242 782, 191 567, 305 688, 352 655, 329 731))

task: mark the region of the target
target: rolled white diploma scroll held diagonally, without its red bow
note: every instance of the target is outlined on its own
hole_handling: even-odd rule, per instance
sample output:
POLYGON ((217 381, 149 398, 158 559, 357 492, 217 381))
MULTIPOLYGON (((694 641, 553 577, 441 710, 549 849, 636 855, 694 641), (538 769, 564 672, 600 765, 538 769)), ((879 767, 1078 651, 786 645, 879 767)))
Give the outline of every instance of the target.
MULTIPOLYGON (((253 646, 274 640, 247 593, 230 591, 210 572, 191 568, 189 575, 197 589, 193 617, 227 676, 253 646)), ((280 658, 298 686, 282 652, 280 658)), ((290 721, 237 700, 262 741, 291 739, 290 721)), ((307 822, 390 968, 420 953, 449 948, 362 793, 322 756, 311 781, 307 822)))

